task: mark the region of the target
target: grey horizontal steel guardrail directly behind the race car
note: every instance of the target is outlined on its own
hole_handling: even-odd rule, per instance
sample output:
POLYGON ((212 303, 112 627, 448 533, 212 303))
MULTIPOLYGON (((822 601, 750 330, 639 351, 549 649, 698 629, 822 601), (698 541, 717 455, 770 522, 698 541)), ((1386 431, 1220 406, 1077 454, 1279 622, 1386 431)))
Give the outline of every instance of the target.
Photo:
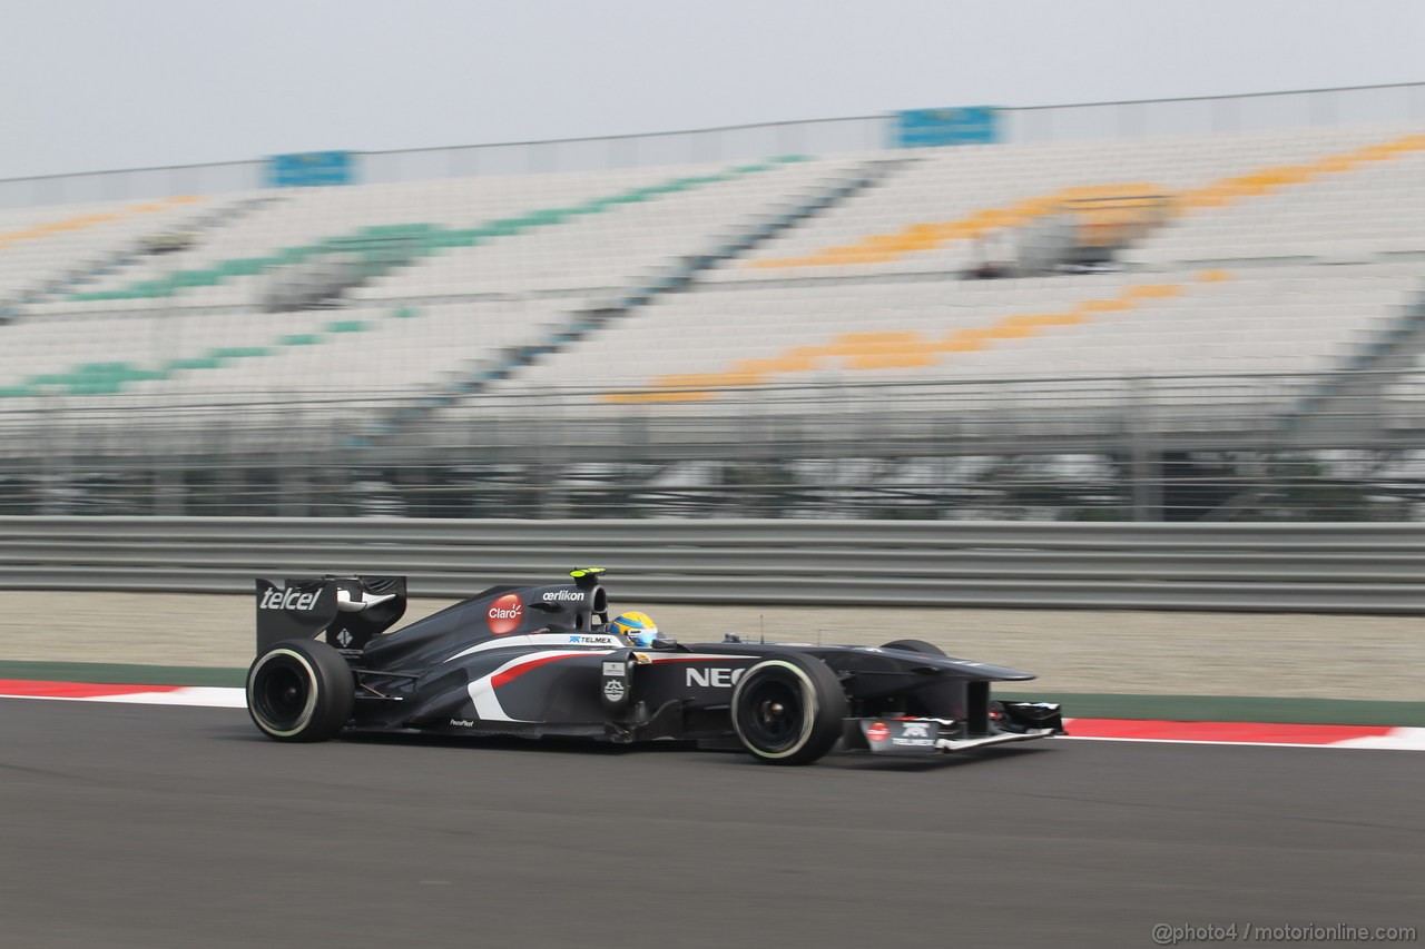
POLYGON ((584 563, 646 601, 1425 611, 1425 524, 0 517, 10 590, 398 573, 455 597, 584 563))

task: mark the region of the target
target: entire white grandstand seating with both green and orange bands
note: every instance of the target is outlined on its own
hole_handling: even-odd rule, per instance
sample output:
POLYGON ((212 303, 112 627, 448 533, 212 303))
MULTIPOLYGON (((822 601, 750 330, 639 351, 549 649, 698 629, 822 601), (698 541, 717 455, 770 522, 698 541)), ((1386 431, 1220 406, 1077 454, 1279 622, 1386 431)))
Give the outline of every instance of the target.
POLYGON ((7 211, 4 455, 16 484, 78 466, 157 496, 155 455, 275 484, 292 452, 514 482, 1404 452, 1422 212, 1401 125, 7 211))

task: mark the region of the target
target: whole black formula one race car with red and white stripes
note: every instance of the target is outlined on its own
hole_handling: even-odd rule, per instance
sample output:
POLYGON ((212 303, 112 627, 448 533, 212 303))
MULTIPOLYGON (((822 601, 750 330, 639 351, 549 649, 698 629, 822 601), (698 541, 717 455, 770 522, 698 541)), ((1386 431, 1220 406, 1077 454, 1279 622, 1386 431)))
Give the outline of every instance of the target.
POLYGON ((1064 734, 1059 705, 990 700, 990 683, 1032 673, 919 640, 636 647, 608 624, 603 573, 490 587, 393 633, 405 577, 258 580, 252 721, 278 741, 352 730, 737 742, 771 764, 808 764, 838 742, 935 755, 1064 734))

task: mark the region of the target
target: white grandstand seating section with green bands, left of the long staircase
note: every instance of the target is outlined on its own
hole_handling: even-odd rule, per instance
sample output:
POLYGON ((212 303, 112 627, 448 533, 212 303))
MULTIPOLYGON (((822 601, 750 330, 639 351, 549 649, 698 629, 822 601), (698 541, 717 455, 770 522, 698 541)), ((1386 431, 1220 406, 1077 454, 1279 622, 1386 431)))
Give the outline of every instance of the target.
MULTIPOLYGON (((443 373, 540 343, 570 313, 656 282, 668 261, 715 251, 725 231, 751 227, 798 188, 839 178, 841 164, 252 195, 268 202, 261 212, 187 251, 95 268, 27 302, 9 328, 3 392, 423 393, 443 373), (339 306, 274 305, 275 278, 323 261, 346 271, 335 299, 319 301, 339 306)), ((63 268, 66 252, 50 266, 63 268)))

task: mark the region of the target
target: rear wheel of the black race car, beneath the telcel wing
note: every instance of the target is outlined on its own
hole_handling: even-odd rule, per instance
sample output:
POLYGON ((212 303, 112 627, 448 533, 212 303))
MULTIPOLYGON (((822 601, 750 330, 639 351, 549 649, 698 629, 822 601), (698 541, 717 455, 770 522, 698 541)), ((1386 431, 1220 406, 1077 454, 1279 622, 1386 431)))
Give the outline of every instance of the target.
POLYGON ((335 738, 356 701, 351 665, 316 640, 282 640, 248 668, 248 714, 268 738, 335 738))

